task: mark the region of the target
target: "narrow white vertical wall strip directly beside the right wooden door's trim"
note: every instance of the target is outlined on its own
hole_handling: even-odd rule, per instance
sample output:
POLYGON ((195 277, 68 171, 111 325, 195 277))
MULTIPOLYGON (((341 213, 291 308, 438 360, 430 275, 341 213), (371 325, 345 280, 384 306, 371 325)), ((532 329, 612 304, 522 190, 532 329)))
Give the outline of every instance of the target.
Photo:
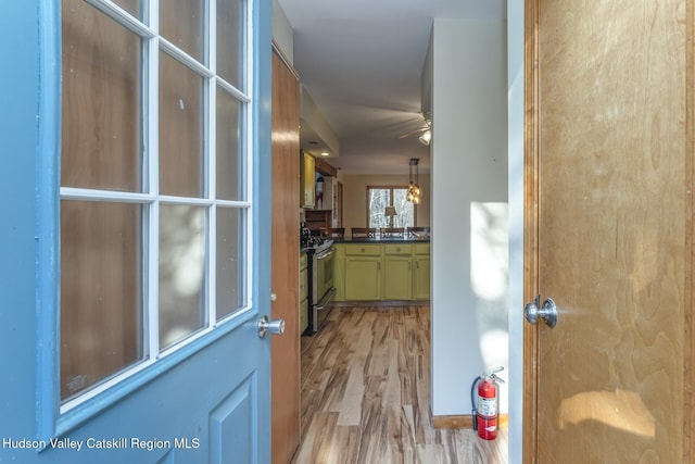
POLYGON ((509 463, 521 463, 523 418, 523 0, 507 0, 509 134, 509 463))

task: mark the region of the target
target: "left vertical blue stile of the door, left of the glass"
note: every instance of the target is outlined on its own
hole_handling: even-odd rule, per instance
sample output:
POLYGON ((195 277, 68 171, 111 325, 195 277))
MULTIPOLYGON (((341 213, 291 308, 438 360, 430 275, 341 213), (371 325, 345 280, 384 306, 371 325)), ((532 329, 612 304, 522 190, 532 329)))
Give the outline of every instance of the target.
MULTIPOLYGON (((36 438, 37 0, 1 0, 0 53, 0 438, 36 438), (21 40, 17 40, 17 37, 21 40), (22 72, 11 70, 18 66, 22 72), (20 317, 21 316, 21 317, 20 317), (27 414, 27 411, 31 413, 27 414)), ((0 447, 0 457, 5 453, 0 447)))

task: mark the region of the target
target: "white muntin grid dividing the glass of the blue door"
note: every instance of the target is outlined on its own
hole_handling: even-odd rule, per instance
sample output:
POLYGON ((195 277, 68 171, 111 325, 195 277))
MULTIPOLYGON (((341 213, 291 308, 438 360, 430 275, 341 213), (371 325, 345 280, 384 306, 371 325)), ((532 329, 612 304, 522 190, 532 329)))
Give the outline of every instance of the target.
MULTIPOLYGON (((87 200, 98 202, 123 202, 123 203, 138 203, 143 205, 143 225, 142 225, 142 241, 143 249, 143 299, 144 299, 144 321, 142 326, 144 328, 144 359, 142 362, 127 368, 121 373, 114 373, 114 375, 103 379, 102 383, 91 389, 87 389, 81 392, 77 398, 70 399, 61 405, 61 413, 67 412, 73 407, 81 404, 90 398, 98 396, 101 391, 118 384, 124 378, 128 378, 136 373, 142 371, 147 366, 154 363, 157 359, 167 355, 168 353, 176 351, 178 348, 192 342, 205 334, 214 330, 219 324, 233 317, 239 311, 244 308, 249 308, 252 302, 250 301, 252 281, 247 276, 253 275, 252 266, 253 259, 251 255, 251 248, 248 247, 248 238, 252 236, 251 217, 252 211, 252 195, 249 179, 253 175, 251 172, 251 153, 252 145, 252 129, 247 121, 251 121, 253 109, 251 108, 251 95, 253 92, 252 83, 252 70, 248 64, 243 64, 247 70, 247 76, 244 81, 248 83, 247 91, 242 91, 219 76, 215 75, 215 33, 216 22, 212 21, 215 15, 215 1, 211 0, 207 7, 208 21, 206 26, 210 29, 206 32, 206 43, 204 60, 208 65, 205 65, 198 60, 193 59, 189 54, 185 53, 174 45, 157 36, 159 32, 159 1, 153 0, 150 2, 143 1, 143 21, 132 16, 130 13, 122 9, 116 3, 110 0, 85 0, 89 4, 96 7, 102 13, 106 14, 113 21, 122 24, 130 32, 140 36, 143 40, 143 63, 142 63, 142 81, 143 81, 143 117, 141 121, 142 133, 144 139, 143 147, 143 191, 138 192, 121 192, 99 189, 84 189, 84 188, 71 188, 61 187, 61 199, 64 201, 71 200, 87 200), (148 4, 149 3, 149 4, 148 4), (181 198, 173 196, 160 196, 159 195, 159 142, 157 142, 157 127, 159 127, 159 53, 160 51, 166 52, 168 55, 179 61, 195 74, 203 77, 204 81, 204 103, 203 103, 203 126, 204 126, 204 191, 202 198, 181 198), (240 145, 242 162, 240 165, 245 170, 245 181, 242 186, 243 198, 238 200, 218 200, 215 198, 216 176, 215 176, 215 136, 216 136, 216 92, 224 91, 231 95, 239 100, 242 105, 242 121, 239 127, 240 137, 242 142, 240 145), (202 214, 202 227, 203 237, 198 239, 198 253, 203 253, 203 256, 198 256, 198 263, 204 268, 201 271, 203 275, 203 283, 201 287, 201 301, 203 302, 204 313, 202 314, 202 324, 199 329, 192 330, 187 336, 184 336, 179 340, 174 340, 172 343, 164 344, 160 340, 160 289, 159 289, 159 273, 160 268, 157 263, 160 262, 160 236, 161 227, 161 214, 162 208, 168 208, 169 205, 176 205, 178 208, 192 208, 203 211, 202 214), (216 230, 217 230, 217 209, 235 209, 239 212, 239 222, 243 225, 240 227, 241 237, 238 237, 240 255, 243 264, 239 267, 242 276, 239 279, 241 300, 237 304, 236 311, 224 311, 224 314, 218 316, 216 314, 216 230), (202 250, 202 251, 201 251, 202 250)), ((245 21, 250 22, 252 12, 250 8, 244 8, 245 21)), ((252 27, 247 27, 247 51, 245 58, 248 63, 248 57, 253 55, 252 45, 252 27)), ((199 214, 200 215, 200 214, 199 214)), ((199 269, 200 271, 200 269, 199 269)), ((198 276, 200 278, 200 275, 198 276)))

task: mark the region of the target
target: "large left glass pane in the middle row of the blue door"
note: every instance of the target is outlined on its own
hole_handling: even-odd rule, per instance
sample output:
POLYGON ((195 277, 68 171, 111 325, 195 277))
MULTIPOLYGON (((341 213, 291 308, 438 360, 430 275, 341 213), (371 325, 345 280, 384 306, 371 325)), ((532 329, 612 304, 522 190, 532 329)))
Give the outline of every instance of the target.
POLYGON ((141 40, 63 0, 61 185, 142 191, 141 40))

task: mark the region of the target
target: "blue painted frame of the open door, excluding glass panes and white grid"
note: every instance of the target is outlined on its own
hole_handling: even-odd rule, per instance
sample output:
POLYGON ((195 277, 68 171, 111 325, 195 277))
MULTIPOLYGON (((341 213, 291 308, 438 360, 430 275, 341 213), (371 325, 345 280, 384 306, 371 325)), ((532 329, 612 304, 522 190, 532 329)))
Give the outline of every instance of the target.
MULTIPOLYGON (((257 335, 270 305, 270 195, 258 181, 270 165, 269 105, 254 116, 254 306, 225 334, 61 416, 61 2, 0 8, 0 52, 12 70, 0 73, 0 462, 269 463, 270 343, 257 335)), ((260 102, 270 92, 270 11, 269 0, 254 8, 260 102)))

